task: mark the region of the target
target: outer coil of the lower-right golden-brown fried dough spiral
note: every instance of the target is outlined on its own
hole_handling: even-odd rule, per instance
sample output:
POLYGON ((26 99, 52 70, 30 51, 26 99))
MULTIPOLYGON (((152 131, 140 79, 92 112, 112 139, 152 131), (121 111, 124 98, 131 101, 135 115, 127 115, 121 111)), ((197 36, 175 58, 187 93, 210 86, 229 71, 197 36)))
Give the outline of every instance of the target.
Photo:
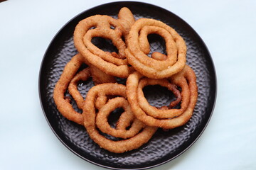
MULTIPOLYGON (((186 86, 187 84, 189 89, 190 97, 188 107, 186 108, 186 111, 183 111, 183 113, 176 118, 158 119, 147 115, 147 113, 142 110, 138 103, 137 94, 139 79, 141 78, 141 74, 139 74, 138 72, 134 72, 134 74, 131 74, 127 79, 127 98, 131 105, 132 112, 139 120, 141 120, 146 125, 164 129, 176 128, 188 122, 193 114, 193 109, 196 106, 198 96, 196 75, 191 67, 188 67, 188 65, 186 65, 186 67, 184 67, 181 72, 178 72, 177 74, 174 74, 172 77, 169 78, 169 80, 174 84, 176 84, 177 82, 182 82, 183 84, 185 84, 184 86, 186 86)), ((182 90, 184 90, 184 87, 182 88, 182 90)))

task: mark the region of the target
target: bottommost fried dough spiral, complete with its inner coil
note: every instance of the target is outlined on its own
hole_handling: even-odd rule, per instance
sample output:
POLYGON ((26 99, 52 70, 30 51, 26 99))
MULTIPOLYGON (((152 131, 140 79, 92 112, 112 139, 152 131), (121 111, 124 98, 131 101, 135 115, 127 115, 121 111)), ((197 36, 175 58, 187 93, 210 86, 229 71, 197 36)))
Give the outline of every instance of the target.
POLYGON ((154 132, 156 132, 157 130, 157 128, 149 126, 146 126, 144 128, 144 125, 136 119, 133 120, 131 128, 129 130, 126 130, 126 128, 129 126, 129 122, 124 123, 124 117, 127 117, 128 120, 130 121, 131 118, 134 119, 134 116, 131 115, 132 112, 129 111, 129 105, 126 99, 124 100, 124 98, 126 98, 126 88, 124 85, 100 84, 90 89, 85 99, 85 105, 82 108, 84 125, 88 134, 90 135, 92 140, 94 140, 98 145, 100 145, 100 147, 107 149, 110 152, 122 153, 132 149, 137 149, 144 143, 148 142, 152 135, 154 135, 154 132), (107 106, 102 106, 102 108, 100 108, 99 113, 97 113, 95 111, 95 100, 97 100, 97 96, 102 96, 102 94, 122 96, 122 98, 118 97, 111 99, 106 103, 107 106), (101 135, 100 132, 97 130, 97 128, 100 127, 97 127, 97 125, 107 123, 107 115, 110 113, 110 111, 112 111, 114 108, 117 108, 118 106, 123 106, 126 112, 124 113, 124 115, 121 115, 118 123, 119 127, 117 128, 117 130, 110 129, 109 125, 105 125, 105 127, 108 127, 107 129, 103 128, 104 131, 109 135, 115 135, 118 137, 122 137, 124 135, 123 138, 125 140, 113 141, 101 135), (97 118, 97 114, 100 114, 100 118, 97 118), (142 130, 142 132, 139 132, 140 130, 142 130), (127 137, 129 138, 126 139, 127 137))

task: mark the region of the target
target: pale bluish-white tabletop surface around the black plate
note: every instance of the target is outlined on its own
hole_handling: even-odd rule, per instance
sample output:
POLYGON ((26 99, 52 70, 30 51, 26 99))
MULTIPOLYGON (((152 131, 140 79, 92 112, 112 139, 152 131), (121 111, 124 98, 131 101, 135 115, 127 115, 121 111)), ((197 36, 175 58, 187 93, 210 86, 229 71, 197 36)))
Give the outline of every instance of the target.
MULTIPOLYGON (((0 3, 0 169, 101 169, 70 152, 50 130, 38 74, 55 33, 78 13, 109 1, 0 3)), ((164 169, 256 169, 256 1, 147 1, 176 13, 206 42, 218 98, 203 135, 164 169)))

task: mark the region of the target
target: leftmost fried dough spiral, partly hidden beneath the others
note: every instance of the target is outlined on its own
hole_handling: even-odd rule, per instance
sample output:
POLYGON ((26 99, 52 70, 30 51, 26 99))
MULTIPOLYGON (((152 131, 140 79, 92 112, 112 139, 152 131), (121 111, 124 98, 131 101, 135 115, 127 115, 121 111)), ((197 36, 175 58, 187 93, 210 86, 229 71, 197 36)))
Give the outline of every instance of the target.
POLYGON ((53 99, 58 111, 60 111, 65 118, 68 118, 68 120, 72 120, 80 125, 83 124, 82 114, 75 111, 73 106, 70 104, 70 98, 65 97, 67 89, 77 103, 78 108, 82 108, 85 100, 78 91, 77 86, 79 81, 86 81, 90 76, 92 76, 92 80, 95 80, 95 84, 115 82, 114 77, 101 72, 93 66, 90 68, 87 67, 78 72, 78 69, 80 69, 83 63, 87 63, 85 58, 80 54, 75 55, 70 62, 65 65, 63 74, 61 74, 53 91, 53 99))

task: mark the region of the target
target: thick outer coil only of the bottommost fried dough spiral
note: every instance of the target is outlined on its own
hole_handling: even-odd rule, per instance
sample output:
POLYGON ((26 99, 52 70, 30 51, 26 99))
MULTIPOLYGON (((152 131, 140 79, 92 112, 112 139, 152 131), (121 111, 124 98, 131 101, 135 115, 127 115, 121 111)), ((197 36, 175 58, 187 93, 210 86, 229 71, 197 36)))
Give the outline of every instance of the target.
MULTIPOLYGON (((92 140, 100 145, 100 147, 114 153, 122 153, 132 149, 137 149, 144 143, 148 142, 152 135, 154 135, 154 132, 156 132, 157 128, 146 126, 134 137, 119 141, 112 141, 103 135, 100 135, 96 126, 97 113, 95 111, 95 100, 97 96, 102 96, 102 94, 105 94, 106 96, 122 96, 125 98, 126 88, 122 84, 99 84, 97 86, 93 86, 87 93, 85 105, 82 108, 82 115, 84 118, 85 128, 92 140)), ((102 108, 103 107, 104 106, 102 106, 102 108)))

